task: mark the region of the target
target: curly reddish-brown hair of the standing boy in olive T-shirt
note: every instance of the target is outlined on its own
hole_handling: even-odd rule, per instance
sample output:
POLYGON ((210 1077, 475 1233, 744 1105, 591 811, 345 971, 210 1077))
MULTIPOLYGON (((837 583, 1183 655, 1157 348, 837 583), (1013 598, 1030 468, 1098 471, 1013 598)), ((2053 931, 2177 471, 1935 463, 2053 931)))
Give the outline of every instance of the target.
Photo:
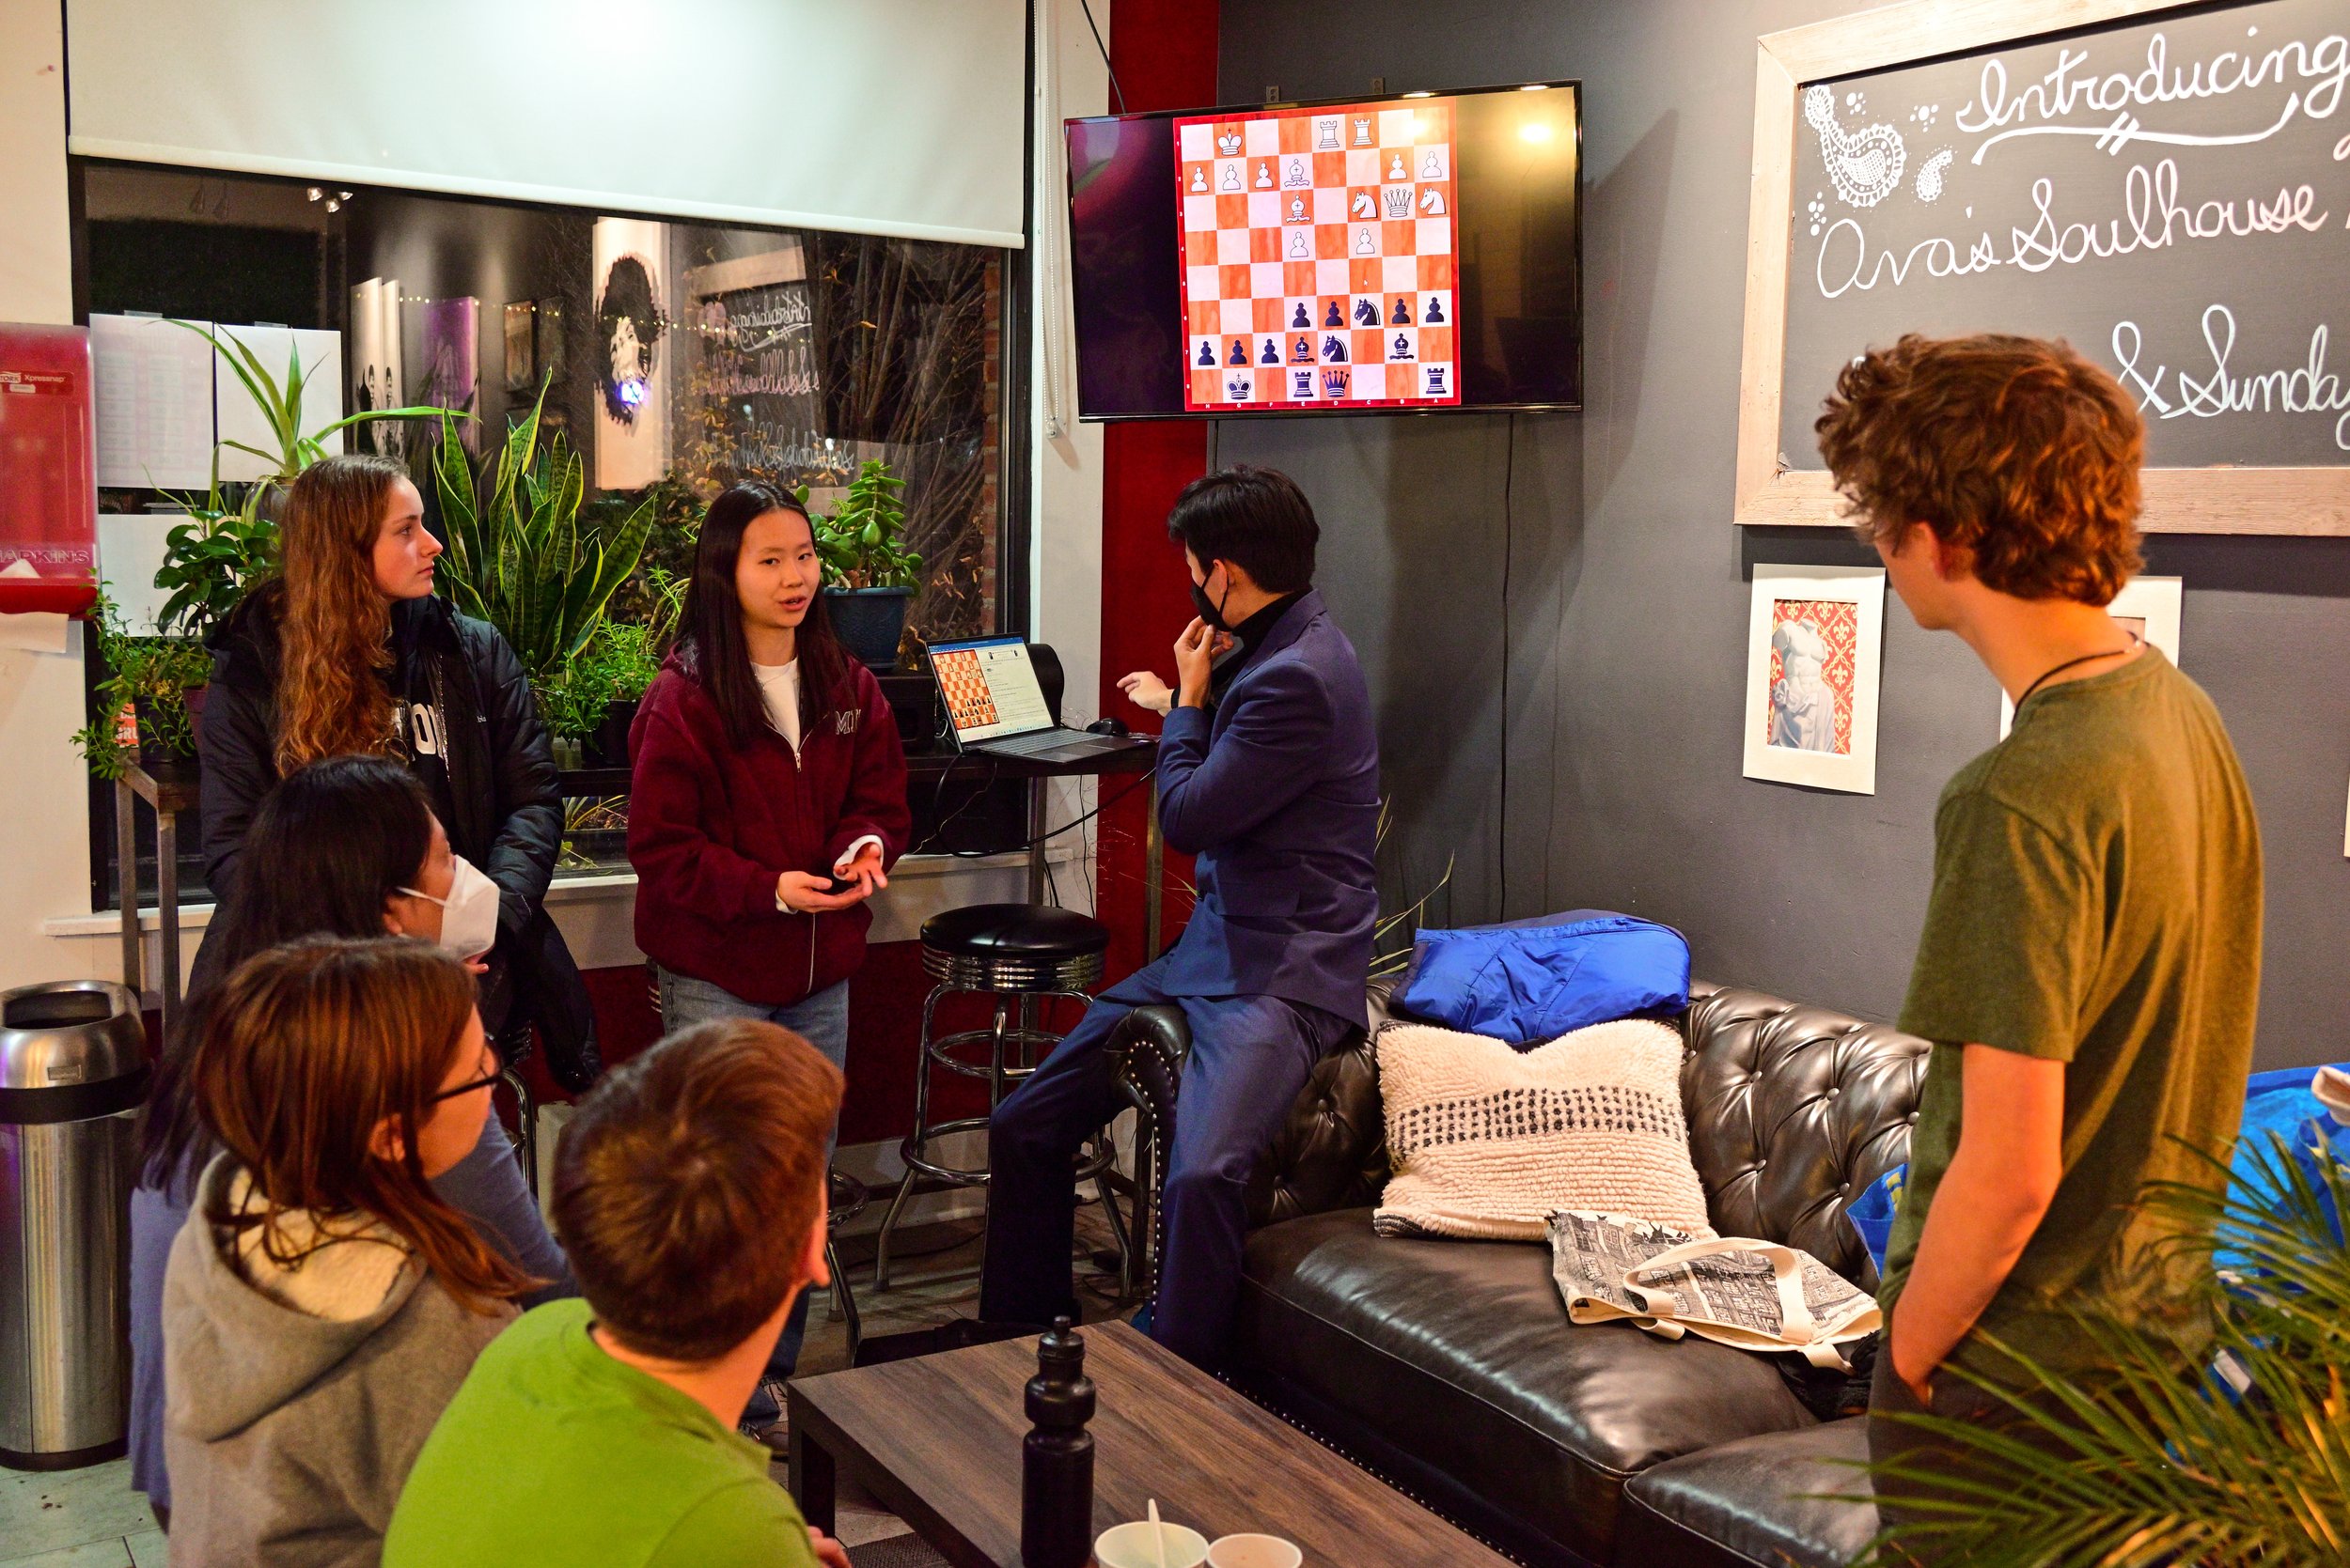
POLYGON ((2068 343, 1911 333, 1847 364, 1812 430, 1864 540, 1925 523, 2016 599, 2103 606, 2138 570, 2146 423, 2068 343))

